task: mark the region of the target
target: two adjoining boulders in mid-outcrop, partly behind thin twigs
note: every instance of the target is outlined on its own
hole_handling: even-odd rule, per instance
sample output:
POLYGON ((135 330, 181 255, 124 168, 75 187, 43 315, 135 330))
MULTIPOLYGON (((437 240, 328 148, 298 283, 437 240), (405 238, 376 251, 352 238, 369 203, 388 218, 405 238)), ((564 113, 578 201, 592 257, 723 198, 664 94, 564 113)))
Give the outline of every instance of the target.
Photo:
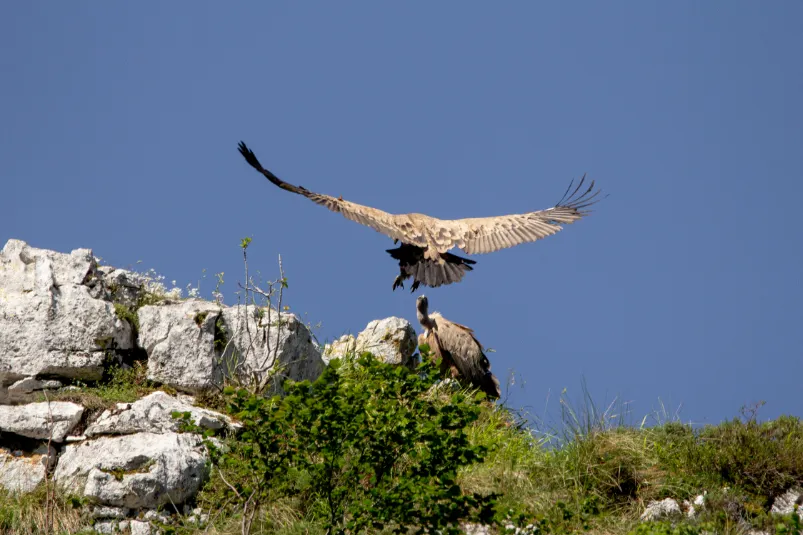
POLYGON ((198 299, 139 311, 148 378, 187 392, 224 379, 278 391, 284 379, 314 380, 320 349, 301 320, 261 307, 221 307, 198 299))

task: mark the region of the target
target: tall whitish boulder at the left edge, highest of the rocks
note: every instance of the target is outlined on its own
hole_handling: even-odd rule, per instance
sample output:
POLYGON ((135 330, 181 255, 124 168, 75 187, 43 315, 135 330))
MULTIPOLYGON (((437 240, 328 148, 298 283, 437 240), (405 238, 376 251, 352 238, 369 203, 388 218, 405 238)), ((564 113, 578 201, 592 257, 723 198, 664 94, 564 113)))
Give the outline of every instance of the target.
MULTIPOLYGON (((9 240, 0 251, 0 385, 34 376, 100 379, 105 350, 133 347, 131 326, 87 286, 89 249, 9 240)), ((0 401, 2 401, 0 399, 0 401)))

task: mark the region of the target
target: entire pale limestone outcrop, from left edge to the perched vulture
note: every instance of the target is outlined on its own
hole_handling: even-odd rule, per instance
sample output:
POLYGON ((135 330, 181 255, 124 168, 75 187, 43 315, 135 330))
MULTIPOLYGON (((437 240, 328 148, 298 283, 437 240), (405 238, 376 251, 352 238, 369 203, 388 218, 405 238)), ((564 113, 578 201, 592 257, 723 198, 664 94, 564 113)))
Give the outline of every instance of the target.
MULTIPOLYGON (((415 346, 409 322, 387 318, 330 353, 371 351, 408 364, 415 346)), ((208 453, 174 415, 216 432, 239 424, 163 391, 100 414, 41 401, 67 390, 80 400, 84 383, 135 358, 153 383, 189 393, 234 382, 273 394, 285 379, 314 380, 325 366, 293 314, 181 300, 149 275, 99 266, 88 249, 64 254, 10 240, 0 251, 0 487, 30 492, 51 479, 88 499, 99 532, 152 532, 150 520, 167 519, 157 508, 185 502, 203 522, 192 498, 208 453)))

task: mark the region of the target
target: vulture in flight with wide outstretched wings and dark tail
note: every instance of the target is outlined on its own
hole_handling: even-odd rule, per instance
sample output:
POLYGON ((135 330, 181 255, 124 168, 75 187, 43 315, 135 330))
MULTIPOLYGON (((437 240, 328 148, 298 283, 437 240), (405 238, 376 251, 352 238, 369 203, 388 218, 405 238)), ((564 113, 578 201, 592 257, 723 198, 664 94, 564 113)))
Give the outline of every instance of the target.
POLYGON ((401 242, 400 247, 387 250, 399 261, 400 274, 393 281, 394 290, 399 286, 404 288, 403 281, 411 277, 411 291, 415 291, 419 284, 437 288, 442 284, 460 282, 476 262, 453 255, 447 252, 449 249, 458 247, 467 254, 492 253, 546 238, 561 230, 561 224, 574 223, 587 215, 589 212, 584 209, 597 202, 595 197, 600 193, 599 190, 592 191, 593 181, 588 189, 581 190, 585 182, 583 175, 574 189, 574 181, 569 184, 558 204, 538 212, 451 220, 424 214, 389 214, 344 201, 342 197, 331 197, 288 184, 262 167, 253 151, 242 141, 239 148, 240 154, 254 169, 280 188, 303 195, 333 212, 340 212, 346 219, 393 238, 394 243, 401 242))

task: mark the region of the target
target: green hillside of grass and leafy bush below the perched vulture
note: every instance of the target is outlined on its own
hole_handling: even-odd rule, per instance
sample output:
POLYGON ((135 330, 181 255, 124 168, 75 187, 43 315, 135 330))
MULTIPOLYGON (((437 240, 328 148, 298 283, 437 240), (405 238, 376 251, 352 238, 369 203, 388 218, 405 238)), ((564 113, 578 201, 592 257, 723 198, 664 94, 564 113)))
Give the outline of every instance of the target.
MULTIPOLYGON (((132 401, 153 389, 144 376, 117 371, 64 395, 91 408, 132 401)), ((493 533, 800 530, 793 515, 768 513, 803 485, 803 423, 791 416, 632 427, 610 425, 590 400, 573 409, 564 399, 559 433, 542 434, 440 381, 431 365, 407 370, 367 355, 335 361, 285 398, 229 388, 200 401, 244 429, 212 439, 215 465, 191 504, 207 522, 179 515, 168 533, 449 533, 467 522, 493 533), (703 492, 695 518, 639 522, 652 500, 703 492)), ((0 532, 72 533, 85 511, 52 487, 0 494, 0 532)))

